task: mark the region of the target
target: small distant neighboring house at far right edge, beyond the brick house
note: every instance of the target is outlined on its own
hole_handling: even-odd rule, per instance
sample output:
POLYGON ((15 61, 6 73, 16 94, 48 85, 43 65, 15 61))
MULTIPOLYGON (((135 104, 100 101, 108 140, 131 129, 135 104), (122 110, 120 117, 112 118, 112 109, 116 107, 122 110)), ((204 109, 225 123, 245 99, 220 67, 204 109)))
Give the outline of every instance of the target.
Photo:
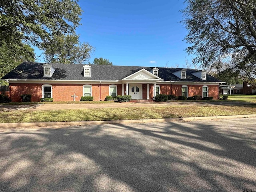
POLYGON ((220 94, 232 95, 232 94, 254 94, 256 93, 255 86, 244 82, 243 84, 234 85, 220 85, 220 94))

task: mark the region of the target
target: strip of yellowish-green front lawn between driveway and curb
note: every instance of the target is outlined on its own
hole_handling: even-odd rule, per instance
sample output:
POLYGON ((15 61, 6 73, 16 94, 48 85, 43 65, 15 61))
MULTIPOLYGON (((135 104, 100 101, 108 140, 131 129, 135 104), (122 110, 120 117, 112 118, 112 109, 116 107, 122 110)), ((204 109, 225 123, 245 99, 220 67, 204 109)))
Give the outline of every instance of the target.
POLYGON ((170 106, 0 112, 0 123, 133 120, 256 114, 256 105, 170 106))

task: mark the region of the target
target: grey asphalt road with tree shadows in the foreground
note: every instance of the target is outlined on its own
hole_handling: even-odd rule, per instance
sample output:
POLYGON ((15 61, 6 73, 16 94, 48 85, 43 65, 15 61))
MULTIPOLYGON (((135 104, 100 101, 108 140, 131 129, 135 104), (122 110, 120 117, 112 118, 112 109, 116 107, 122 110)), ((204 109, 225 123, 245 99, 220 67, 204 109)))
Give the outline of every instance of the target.
POLYGON ((256 191, 255 124, 241 118, 0 129, 0 191, 256 191))

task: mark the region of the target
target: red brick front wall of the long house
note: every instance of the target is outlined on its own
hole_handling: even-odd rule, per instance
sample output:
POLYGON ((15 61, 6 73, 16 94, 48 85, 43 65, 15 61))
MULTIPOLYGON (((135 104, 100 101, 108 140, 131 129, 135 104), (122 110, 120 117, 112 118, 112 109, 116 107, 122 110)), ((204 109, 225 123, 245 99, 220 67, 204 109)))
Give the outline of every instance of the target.
MULTIPOLYGON (((20 95, 31 94, 31 100, 34 102, 40 101, 42 98, 42 85, 43 84, 10 84, 10 98, 12 102, 20 102, 20 95)), ((71 97, 74 93, 78 96, 76 100, 80 100, 83 95, 84 84, 51 84, 52 85, 52 97, 54 101, 72 101, 71 97)), ((92 96, 94 101, 104 100, 109 95, 110 84, 92 84, 92 96), (101 92, 101 96, 100 96, 101 92)), ((122 95, 122 84, 117 85, 117 94, 122 95)), ((172 94, 175 96, 181 95, 182 85, 160 85, 161 94, 172 94)), ((149 97, 153 98, 153 87, 149 85, 149 97)), ((126 84, 124 84, 124 94, 126 90, 126 84)), ((142 98, 147 98, 147 85, 142 85, 142 98)), ((188 85, 188 96, 200 95, 202 96, 202 85, 188 85)), ((208 96, 218 99, 218 85, 208 85, 208 96)))

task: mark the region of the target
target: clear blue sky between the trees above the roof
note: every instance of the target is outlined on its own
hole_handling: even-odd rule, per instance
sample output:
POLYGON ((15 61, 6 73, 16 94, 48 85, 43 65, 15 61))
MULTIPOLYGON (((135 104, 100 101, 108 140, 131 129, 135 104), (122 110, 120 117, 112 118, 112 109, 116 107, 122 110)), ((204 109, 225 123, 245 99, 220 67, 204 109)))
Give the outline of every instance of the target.
MULTIPOLYGON (((180 21, 184 0, 80 0, 84 11, 77 28, 81 42, 96 48, 94 58, 113 65, 186 67, 184 37, 180 21)), ((40 51, 35 50, 37 55, 40 51)), ((44 61, 42 56, 39 61, 44 61)))

